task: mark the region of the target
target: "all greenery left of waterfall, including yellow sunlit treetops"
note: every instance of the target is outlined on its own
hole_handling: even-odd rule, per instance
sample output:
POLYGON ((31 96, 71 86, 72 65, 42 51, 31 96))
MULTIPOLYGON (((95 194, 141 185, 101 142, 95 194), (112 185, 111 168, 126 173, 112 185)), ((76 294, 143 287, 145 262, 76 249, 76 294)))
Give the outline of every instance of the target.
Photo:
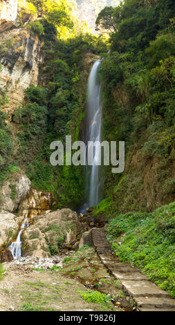
MULTIPOLYGON (((19 21, 23 24, 27 12, 27 28, 44 42, 45 59, 39 74, 44 86, 41 83, 26 89, 24 103, 13 113, 12 122, 17 124, 15 143, 6 123, 8 116, 3 111, 0 119, 2 175, 6 174, 9 163, 21 167, 33 187, 53 193, 55 207, 80 204, 83 170, 82 167, 50 165, 50 143, 65 142, 66 135, 71 135, 73 141, 80 139, 89 62, 108 50, 103 37, 90 35, 80 26, 75 32, 77 22, 72 9, 66 0, 31 0, 26 4, 19 1, 19 21)), ((6 100, 6 93, 2 93, 1 103, 6 100)))

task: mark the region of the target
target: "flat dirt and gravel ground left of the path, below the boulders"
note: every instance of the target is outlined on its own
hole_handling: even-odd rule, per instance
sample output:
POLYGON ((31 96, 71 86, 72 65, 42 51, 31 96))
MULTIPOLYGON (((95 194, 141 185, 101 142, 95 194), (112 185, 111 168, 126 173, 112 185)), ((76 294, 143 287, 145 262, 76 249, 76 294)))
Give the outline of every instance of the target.
POLYGON ((3 311, 135 310, 120 283, 88 246, 50 258, 22 257, 3 263, 3 269, 3 311))

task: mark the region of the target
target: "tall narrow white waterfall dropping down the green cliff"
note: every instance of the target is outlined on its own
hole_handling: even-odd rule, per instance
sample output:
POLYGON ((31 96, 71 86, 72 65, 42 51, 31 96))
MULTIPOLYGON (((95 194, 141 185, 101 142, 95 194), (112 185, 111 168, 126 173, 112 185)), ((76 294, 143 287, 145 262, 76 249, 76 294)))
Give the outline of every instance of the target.
MULTIPOLYGON (((100 79, 98 69, 101 61, 93 64, 88 82, 88 102, 86 113, 86 145, 89 141, 101 141, 102 127, 102 105, 100 102, 100 79)), ((100 155, 98 148, 94 149, 93 166, 88 166, 86 162, 85 179, 85 203, 80 208, 80 212, 85 213, 86 208, 96 206, 102 201, 102 177, 100 177, 100 166, 96 165, 100 155)))

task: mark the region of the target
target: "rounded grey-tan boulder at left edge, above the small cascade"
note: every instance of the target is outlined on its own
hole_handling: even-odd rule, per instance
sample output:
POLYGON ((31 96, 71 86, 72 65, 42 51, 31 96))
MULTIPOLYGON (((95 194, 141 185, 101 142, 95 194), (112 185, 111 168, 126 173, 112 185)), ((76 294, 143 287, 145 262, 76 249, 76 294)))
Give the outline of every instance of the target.
POLYGON ((30 180, 23 171, 16 171, 0 189, 0 210, 14 212, 30 191, 30 180))

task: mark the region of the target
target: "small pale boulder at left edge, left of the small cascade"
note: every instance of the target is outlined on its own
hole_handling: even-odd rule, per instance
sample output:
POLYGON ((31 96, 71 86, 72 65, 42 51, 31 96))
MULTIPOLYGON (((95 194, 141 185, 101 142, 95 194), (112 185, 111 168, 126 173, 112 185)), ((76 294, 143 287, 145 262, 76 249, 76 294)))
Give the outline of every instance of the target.
POLYGON ((17 236, 18 225, 15 221, 15 215, 9 212, 0 213, 0 246, 9 243, 17 236))

